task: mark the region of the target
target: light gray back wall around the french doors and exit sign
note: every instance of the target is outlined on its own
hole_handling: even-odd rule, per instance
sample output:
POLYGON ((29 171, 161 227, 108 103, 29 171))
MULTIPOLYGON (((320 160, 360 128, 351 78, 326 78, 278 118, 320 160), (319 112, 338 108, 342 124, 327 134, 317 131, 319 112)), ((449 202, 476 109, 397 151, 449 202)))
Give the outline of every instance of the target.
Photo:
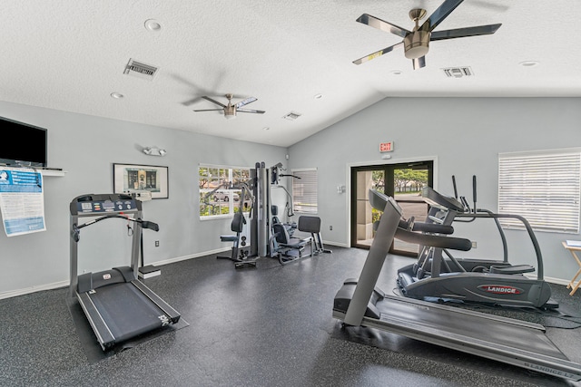
MULTIPOLYGON (((354 165, 435 160, 435 188, 471 198, 478 177, 478 207, 497 211, 497 157, 500 152, 581 147, 578 98, 387 98, 291 146, 292 168, 317 167, 319 216, 325 241, 349 246, 349 170, 354 165), (381 160, 379 143, 394 141, 392 159, 381 160), (337 193, 344 185, 347 192, 337 193), (333 226, 330 231, 329 227, 333 226)), ((460 227, 457 235, 478 242, 464 256, 500 256, 492 223, 460 227)), ((534 263, 525 232, 507 232, 512 263, 534 263)), ((577 266, 561 246, 579 235, 537 233, 545 276, 568 282, 577 266)), ((459 255, 459 254, 458 254, 459 255)), ((561 281, 562 282, 562 281, 561 281)))

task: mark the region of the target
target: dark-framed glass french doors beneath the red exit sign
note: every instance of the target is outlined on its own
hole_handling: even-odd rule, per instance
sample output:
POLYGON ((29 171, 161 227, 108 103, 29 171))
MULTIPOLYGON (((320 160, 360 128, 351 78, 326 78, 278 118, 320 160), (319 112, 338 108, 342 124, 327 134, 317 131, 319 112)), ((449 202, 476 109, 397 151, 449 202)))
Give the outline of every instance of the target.
MULTIPOLYGON (((401 164, 369 165, 351 168, 351 246, 371 247, 379 220, 379 211, 369 204, 369 189, 376 189, 395 198, 403 209, 403 217, 423 222, 428 204, 421 198, 421 189, 433 186, 433 161, 401 164)), ((395 239, 389 250, 401 256, 417 256, 419 246, 395 239)))

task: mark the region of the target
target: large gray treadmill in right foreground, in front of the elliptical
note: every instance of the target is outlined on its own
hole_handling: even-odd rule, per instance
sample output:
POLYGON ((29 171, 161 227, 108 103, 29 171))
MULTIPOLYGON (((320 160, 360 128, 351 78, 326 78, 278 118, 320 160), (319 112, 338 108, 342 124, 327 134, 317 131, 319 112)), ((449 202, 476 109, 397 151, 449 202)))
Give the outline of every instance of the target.
POLYGON ((440 248, 457 248, 470 241, 399 228, 398 203, 373 189, 369 203, 383 211, 379 227, 359 280, 346 280, 335 295, 333 317, 344 325, 376 328, 530 371, 581 380, 581 364, 568 360, 547 337, 543 325, 383 293, 376 284, 394 237, 416 238, 415 243, 440 248))

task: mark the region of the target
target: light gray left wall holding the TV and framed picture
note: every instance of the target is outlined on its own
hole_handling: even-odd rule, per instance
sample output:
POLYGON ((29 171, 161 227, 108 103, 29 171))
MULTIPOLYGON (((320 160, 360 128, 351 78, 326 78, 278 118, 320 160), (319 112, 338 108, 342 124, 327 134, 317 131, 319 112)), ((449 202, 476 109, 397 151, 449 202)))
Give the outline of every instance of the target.
MULTIPOLYGON (((0 116, 48 129, 49 166, 66 171, 64 177, 44 177, 45 232, 6 237, 0 230, 0 298, 68 285, 69 203, 84 193, 112 192, 113 163, 169 167, 169 198, 143 203, 143 218, 160 225, 158 233, 143 232, 146 264, 230 247, 220 241, 220 235, 231 233, 231 219, 199 218, 200 163, 248 168, 257 161, 267 166, 279 161, 287 164, 285 148, 187 131, 8 102, 0 102, 0 116), (147 156, 142 152, 145 146, 161 147, 168 154, 147 156), (160 247, 154 247, 154 240, 160 241, 160 247)), ((123 220, 84 228, 79 273, 129 264, 131 238, 126 237, 126 230, 123 220)))

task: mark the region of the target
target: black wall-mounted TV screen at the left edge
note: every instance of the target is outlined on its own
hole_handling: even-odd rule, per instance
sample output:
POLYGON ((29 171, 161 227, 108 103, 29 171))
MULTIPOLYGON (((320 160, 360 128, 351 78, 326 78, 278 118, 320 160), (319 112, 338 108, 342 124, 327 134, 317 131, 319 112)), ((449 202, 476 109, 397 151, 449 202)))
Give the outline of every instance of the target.
POLYGON ((0 117, 0 164, 46 167, 47 131, 24 122, 0 117))

